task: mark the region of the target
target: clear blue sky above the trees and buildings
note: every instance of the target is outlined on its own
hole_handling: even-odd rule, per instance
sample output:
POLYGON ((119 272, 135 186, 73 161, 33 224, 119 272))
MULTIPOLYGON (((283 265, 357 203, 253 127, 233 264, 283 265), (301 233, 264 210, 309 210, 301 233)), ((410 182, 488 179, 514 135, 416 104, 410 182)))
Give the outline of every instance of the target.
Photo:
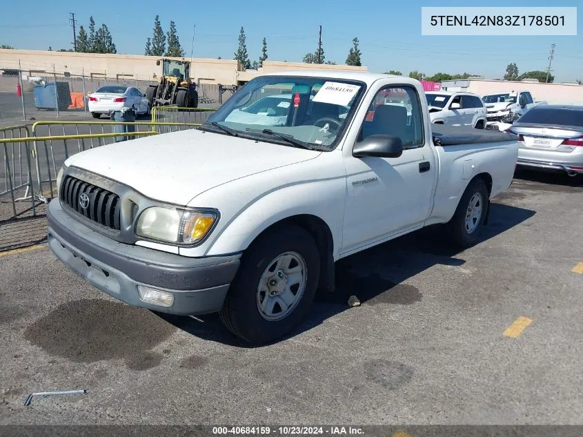
MULTIPOLYGON (((267 39, 270 60, 301 61, 306 52, 317 48, 318 26, 322 25, 326 60, 343 64, 353 37, 358 37, 362 62, 370 71, 392 69, 407 74, 419 70, 427 75, 469 72, 495 79, 504 75, 509 62, 516 62, 520 73, 546 70, 549 50, 555 43, 552 65, 555 81, 583 79, 583 0, 552 2, 552 6, 580 7, 577 10, 579 35, 562 37, 422 36, 422 6, 473 4, 452 0, 186 1, 186 6, 177 6, 179 12, 167 12, 170 3, 158 0, 112 3, 115 6, 106 6, 106 2, 66 0, 50 3, 28 0, 25 7, 17 1, 3 3, 0 44, 22 49, 70 48, 72 28, 68 19, 69 12, 75 12, 77 26, 87 26, 91 14, 98 26, 106 23, 119 53, 143 55, 146 37, 151 36, 155 14, 159 14, 164 30, 168 30, 170 20, 175 21, 187 55, 190 55, 192 30, 196 25, 194 57, 233 59, 239 28, 243 26, 252 61, 260 55, 263 37, 267 39)), ((542 0, 511 1, 510 4, 491 0, 480 4, 550 5, 542 0)))

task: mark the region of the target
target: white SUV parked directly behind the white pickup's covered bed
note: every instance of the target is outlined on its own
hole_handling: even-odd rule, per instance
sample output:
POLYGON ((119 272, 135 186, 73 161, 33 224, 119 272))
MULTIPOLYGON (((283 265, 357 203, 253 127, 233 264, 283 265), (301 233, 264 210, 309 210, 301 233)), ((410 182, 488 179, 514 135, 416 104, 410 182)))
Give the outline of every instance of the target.
POLYGON ((425 97, 432 123, 486 128, 486 108, 479 96, 472 93, 427 91, 425 97))

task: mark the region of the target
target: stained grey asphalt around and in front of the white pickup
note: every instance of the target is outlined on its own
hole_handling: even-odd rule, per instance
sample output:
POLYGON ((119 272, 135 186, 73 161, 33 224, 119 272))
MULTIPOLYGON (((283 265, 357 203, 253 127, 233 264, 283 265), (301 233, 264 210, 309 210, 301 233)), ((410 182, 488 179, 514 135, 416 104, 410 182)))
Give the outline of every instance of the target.
POLYGON ((0 253, 0 424, 582 424, 582 188, 517 175, 472 249, 431 229, 343 260, 266 347, 116 302, 43 245, 0 253), (87 394, 23 406, 60 389, 87 394))

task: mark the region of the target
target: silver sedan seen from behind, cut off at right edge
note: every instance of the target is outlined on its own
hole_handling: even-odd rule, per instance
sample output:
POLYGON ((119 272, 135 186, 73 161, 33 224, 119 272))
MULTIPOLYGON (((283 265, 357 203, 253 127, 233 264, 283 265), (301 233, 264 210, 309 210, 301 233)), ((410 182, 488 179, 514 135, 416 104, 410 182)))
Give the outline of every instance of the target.
POLYGON ((518 166, 583 174, 583 106, 535 106, 508 131, 518 135, 518 166))

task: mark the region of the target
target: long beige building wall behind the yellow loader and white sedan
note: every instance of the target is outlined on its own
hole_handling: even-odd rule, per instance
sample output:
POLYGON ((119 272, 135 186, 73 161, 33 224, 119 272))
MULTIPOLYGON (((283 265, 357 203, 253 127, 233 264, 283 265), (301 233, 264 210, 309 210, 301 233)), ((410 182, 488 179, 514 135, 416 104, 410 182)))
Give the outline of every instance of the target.
MULTIPOLYGON (((97 53, 46 52, 41 50, 0 49, 0 69, 21 69, 26 75, 57 76, 66 72, 72 76, 108 79, 152 80, 160 75, 156 57, 141 55, 101 55, 97 53)), ((186 59, 189 58, 172 58, 186 59)), ((249 81, 262 72, 284 70, 366 71, 366 67, 302 64, 294 62, 265 61, 263 68, 245 71, 233 59, 192 59, 190 76, 200 84, 235 85, 249 81)))

